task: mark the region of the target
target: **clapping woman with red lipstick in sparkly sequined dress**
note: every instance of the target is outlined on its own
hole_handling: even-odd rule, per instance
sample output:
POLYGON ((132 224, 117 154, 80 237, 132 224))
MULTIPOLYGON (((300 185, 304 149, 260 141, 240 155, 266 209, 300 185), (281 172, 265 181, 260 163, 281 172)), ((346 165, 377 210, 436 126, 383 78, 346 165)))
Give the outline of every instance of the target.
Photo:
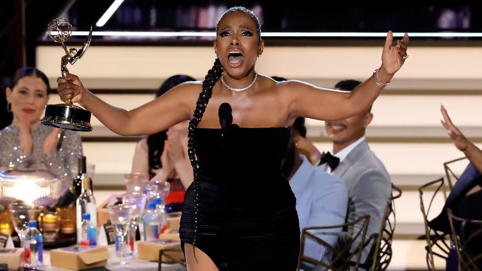
POLYGON ((13 121, 0 130, 0 168, 47 170, 70 187, 70 165, 82 156, 81 139, 76 132, 40 124, 49 88, 47 76, 36 68, 15 72, 5 91, 13 121))

